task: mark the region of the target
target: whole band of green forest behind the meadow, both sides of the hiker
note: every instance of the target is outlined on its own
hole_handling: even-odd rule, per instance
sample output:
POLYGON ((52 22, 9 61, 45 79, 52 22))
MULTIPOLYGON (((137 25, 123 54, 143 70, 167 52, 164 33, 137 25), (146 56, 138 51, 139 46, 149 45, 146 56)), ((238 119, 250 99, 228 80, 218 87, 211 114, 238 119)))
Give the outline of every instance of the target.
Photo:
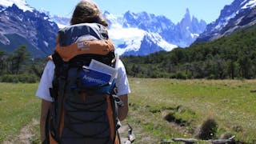
MULTIPOLYGON (((138 78, 256 78, 256 25, 188 48, 146 56, 122 56, 126 72, 138 78)), ((30 57, 26 46, 0 50, 0 82, 38 82, 47 58, 30 57)))

